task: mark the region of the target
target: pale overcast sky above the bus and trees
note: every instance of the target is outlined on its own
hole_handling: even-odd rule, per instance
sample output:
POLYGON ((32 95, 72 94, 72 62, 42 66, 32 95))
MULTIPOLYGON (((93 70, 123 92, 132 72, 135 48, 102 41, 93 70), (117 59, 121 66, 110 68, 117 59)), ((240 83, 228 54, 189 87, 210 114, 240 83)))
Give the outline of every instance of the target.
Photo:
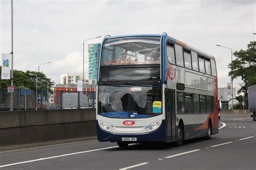
MULTIPOLYGON (((41 70, 56 83, 60 74, 83 74, 83 40, 110 34, 161 34, 212 54, 219 87, 229 80, 233 51, 255 40, 254 1, 32 1, 14 0, 14 68, 41 70)), ((11 51, 10 0, 0 2, 0 53, 11 51)), ((87 41, 100 42, 102 39, 87 41)), ((87 46, 87 44, 86 44, 87 46)), ((85 63, 87 67, 87 60, 85 63)), ((85 76, 87 73, 85 73, 85 76)), ((240 80, 234 81, 239 87, 240 80)))

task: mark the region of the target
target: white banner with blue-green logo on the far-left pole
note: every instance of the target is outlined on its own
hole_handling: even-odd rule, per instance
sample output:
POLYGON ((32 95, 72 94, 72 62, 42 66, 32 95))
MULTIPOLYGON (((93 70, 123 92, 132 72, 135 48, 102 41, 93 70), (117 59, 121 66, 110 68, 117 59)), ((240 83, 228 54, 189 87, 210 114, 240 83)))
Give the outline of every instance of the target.
POLYGON ((2 74, 1 74, 2 80, 11 79, 10 65, 11 65, 11 54, 2 54, 2 74))

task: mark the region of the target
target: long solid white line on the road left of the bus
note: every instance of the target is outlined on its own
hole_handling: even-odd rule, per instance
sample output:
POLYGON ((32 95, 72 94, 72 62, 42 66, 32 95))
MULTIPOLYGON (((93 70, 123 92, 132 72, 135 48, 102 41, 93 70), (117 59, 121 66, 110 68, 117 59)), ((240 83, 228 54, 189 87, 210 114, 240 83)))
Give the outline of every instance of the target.
POLYGON ((75 153, 68 153, 68 154, 57 155, 57 156, 53 156, 53 157, 46 157, 46 158, 33 159, 33 160, 28 160, 28 161, 23 161, 23 162, 16 162, 16 163, 13 163, 13 164, 0 165, 0 168, 8 167, 8 166, 14 166, 14 165, 19 165, 19 164, 26 164, 26 163, 29 163, 29 162, 36 162, 36 161, 41 161, 41 160, 46 160, 46 159, 66 157, 66 156, 75 155, 75 154, 82 154, 82 153, 88 153, 88 152, 107 150, 107 149, 116 148, 116 147, 119 147, 119 146, 110 146, 110 147, 98 148, 98 149, 95 149, 95 150, 75 152, 75 153))

